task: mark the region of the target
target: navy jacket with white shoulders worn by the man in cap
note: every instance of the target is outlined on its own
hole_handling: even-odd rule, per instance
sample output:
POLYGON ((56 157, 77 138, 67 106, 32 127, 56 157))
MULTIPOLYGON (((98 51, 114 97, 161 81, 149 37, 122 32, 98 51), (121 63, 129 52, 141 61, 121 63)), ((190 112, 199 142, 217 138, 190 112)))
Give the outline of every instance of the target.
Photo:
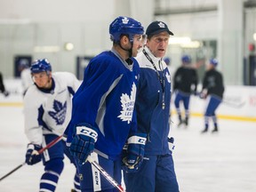
POLYGON ((140 52, 136 57, 140 64, 140 82, 136 98, 138 132, 148 133, 146 155, 165 155, 170 153, 168 134, 170 131, 171 76, 164 60, 156 58, 148 47, 145 47, 145 51, 155 63, 159 76, 145 54, 140 52), (159 77, 163 78, 162 84, 159 77))

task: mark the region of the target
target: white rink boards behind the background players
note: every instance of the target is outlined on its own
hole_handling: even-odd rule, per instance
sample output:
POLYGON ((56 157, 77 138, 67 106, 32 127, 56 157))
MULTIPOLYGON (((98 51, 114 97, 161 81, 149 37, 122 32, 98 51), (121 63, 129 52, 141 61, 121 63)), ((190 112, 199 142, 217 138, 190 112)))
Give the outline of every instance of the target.
MULTIPOLYGON (((11 92, 11 96, 5 98, 0 94, 1 103, 21 102, 22 103, 22 86, 20 79, 7 79, 4 81, 6 90, 11 92)), ((200 91, 201 85, 198 85, 200 91)), ((172 97, 172 110, 174 110, 172 97)), ((20 103, 20 104, 21 104, 20 103)), ((205 100, 197 96, 191 96, 190 111, 191 114, 204 114, 205 100)), ((221 116, 242 116, 256 119, 256 89, 255 86, 228 85, 225 87, 224 99, 217 109, 217 114, 221 116)))

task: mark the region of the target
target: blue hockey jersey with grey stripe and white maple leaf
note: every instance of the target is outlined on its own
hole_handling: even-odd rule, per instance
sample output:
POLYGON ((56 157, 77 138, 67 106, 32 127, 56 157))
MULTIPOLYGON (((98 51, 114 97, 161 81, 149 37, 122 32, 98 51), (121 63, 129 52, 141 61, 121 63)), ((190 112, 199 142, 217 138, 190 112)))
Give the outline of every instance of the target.
POLYGON ((120 156, 127 137, 136 130, 133 108, 140 68, 132 61, 128 65, 115 50, 101 52, 90 61, 73 98, 67 144, 76 134, 76 124, 87 123, 98 131, 95 149, 109 159, 120 156))

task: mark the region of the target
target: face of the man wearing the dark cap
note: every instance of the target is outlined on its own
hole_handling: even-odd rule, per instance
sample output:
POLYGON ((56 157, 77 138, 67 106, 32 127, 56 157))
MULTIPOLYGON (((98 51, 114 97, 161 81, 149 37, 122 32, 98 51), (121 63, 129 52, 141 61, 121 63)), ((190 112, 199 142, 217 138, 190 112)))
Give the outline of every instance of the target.
POLYGON ((170 35, 166 31, 164 31, 148 39, 147 46, 156 58, 164 57, 167 50, 169 38, 170 35))

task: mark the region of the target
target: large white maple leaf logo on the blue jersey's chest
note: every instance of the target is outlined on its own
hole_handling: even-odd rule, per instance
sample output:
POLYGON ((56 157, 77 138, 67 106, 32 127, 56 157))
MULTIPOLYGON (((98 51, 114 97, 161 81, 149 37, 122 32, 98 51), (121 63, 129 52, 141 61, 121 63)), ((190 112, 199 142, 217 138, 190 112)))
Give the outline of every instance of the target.
POLYGON ((133 113, 133 108, 135 103, 136 91, 137 91, 136 85, 133 83, 131 96, 129 97, 128 94, 123 93, 120 98, 121 104, 122 104, 122 110, 121 110, 121 115, 117 117, 119 117, 122 121, 127 121, 127 124, 130 124, 132 121, 132 113, 133 113))

